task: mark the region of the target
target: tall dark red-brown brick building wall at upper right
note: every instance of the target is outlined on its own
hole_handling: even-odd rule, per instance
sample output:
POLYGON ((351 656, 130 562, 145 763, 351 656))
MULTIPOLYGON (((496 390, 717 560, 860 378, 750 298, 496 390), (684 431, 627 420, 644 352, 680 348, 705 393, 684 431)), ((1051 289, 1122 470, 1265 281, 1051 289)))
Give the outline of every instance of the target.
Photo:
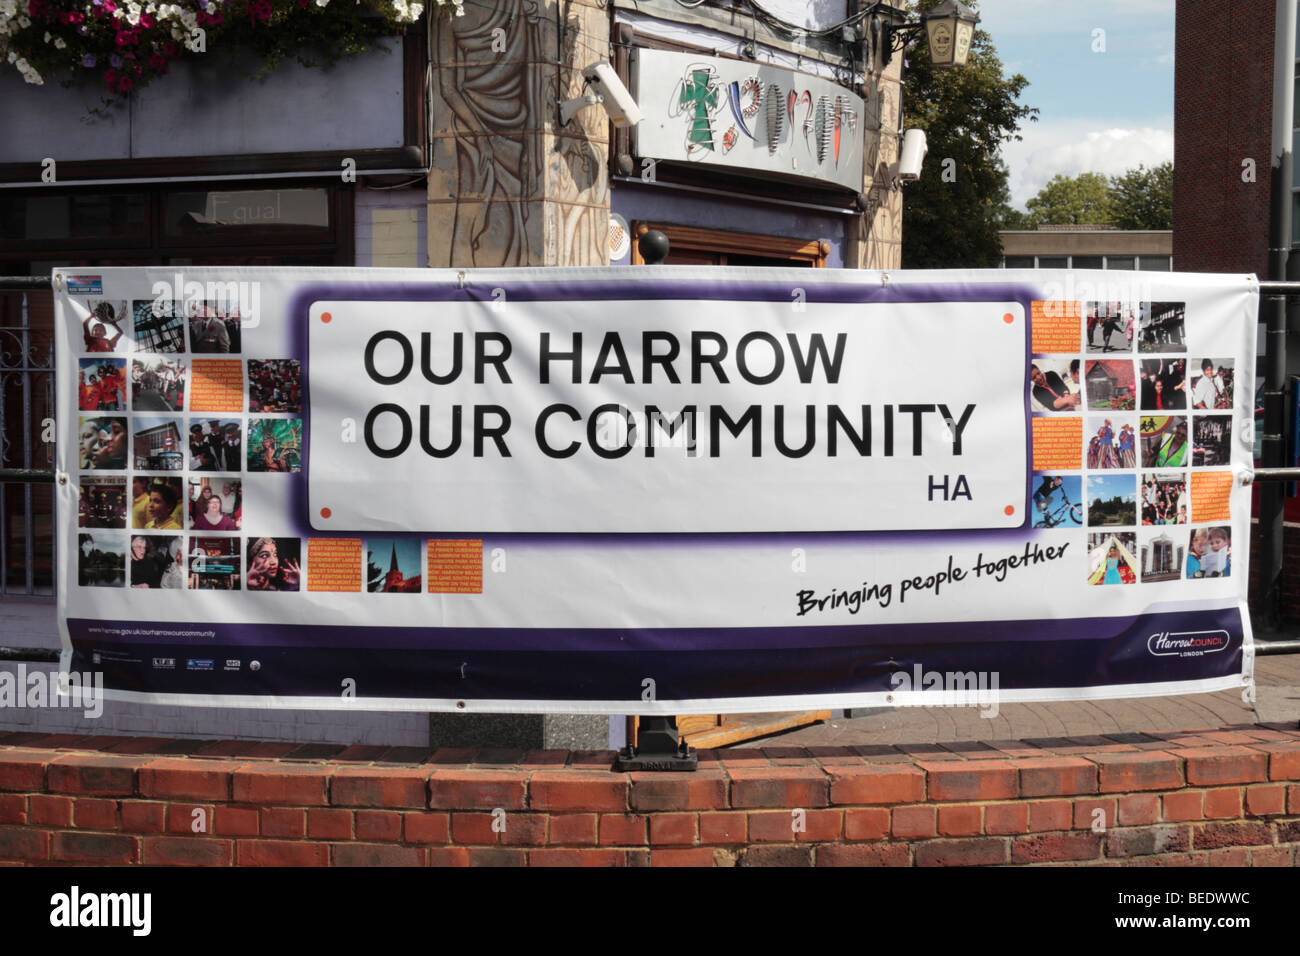
POLYGON ((1178 0, 1174 34, 1174 269, 1265 276, 1273 4, 1178 0))

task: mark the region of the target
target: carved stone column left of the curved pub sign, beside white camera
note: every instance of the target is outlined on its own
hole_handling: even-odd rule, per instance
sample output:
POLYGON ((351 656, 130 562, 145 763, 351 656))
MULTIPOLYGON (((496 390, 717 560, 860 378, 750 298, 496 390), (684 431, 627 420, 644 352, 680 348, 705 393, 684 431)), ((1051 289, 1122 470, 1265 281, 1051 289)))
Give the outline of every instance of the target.
POLYGON ((611 60, 595 0, 465 5, 433 23, 429 265, 603 265, 608 118, 558 103, 611 60))

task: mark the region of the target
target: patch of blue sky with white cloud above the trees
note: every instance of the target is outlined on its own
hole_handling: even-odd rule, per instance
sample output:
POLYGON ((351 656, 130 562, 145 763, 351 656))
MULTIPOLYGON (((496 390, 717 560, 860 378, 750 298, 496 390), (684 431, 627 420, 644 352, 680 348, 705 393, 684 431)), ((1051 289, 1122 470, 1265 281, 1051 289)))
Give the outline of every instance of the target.
POLYGON ((1002 147, 1013 206, 1057 173, 1174 159, 1174 0, 982 0, 979 13, 1004 73, 1030 81, 1020 103, 1039 108, 1002 147))

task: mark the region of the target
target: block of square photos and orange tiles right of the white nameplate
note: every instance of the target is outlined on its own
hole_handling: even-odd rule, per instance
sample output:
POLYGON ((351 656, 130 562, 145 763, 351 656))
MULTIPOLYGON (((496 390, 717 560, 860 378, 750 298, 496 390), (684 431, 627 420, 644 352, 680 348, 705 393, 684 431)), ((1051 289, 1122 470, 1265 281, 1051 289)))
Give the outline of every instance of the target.
POLYGON ((1034 303, 1034 527, 1079 528, 1093 585, 1232 574, 1234 360, 1184 302, 1034 303))

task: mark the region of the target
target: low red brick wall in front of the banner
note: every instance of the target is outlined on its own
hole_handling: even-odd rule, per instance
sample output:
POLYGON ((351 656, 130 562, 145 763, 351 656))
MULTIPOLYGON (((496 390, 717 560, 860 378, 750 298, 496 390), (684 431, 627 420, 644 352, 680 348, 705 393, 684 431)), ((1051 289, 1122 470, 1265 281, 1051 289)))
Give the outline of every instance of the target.
POLYGON ((1300 731, 1282 724, 707 752, 694 774, 615 774, 612 756, 350 748, 320 758, 294 744, 10 734, 0 736, 0 861, 1300 862, 1300 731))

